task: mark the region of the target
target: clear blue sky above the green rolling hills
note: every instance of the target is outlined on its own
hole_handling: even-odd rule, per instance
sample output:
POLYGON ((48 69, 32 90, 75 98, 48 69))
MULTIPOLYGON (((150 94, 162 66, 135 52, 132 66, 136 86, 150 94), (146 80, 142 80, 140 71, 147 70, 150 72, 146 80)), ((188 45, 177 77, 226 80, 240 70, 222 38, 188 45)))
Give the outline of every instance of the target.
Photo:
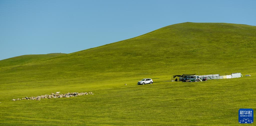
POLYGON ((256 25, 255 6, 255 0, 0 0, 0 60, 76 52, 182 22, 256 25))

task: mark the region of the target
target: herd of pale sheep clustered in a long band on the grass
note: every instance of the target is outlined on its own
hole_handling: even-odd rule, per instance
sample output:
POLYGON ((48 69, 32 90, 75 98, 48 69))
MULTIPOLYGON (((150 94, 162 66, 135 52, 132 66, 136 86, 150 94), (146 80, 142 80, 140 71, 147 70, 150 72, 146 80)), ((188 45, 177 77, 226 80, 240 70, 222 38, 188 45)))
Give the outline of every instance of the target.
POLYGON ((18 100, 37 100, 40 101, 41 99, 56 99, 56 98, 61 98, 61 97, 76 97, 79 95, 88 95, 88 94, 93 94, 92 92, 85 92, 85 93, 78 93, 78 92, 72 92, 72 93, 66 93, 66 94, 59 94, 60 92, 56 92, 56 94, 51 93, 50 95, 46 94, 46 95, 41 95, 41 96, 37 96, 37 97, 24 97, 22 99, 13 99, 12 101, 18 101, 18 100))

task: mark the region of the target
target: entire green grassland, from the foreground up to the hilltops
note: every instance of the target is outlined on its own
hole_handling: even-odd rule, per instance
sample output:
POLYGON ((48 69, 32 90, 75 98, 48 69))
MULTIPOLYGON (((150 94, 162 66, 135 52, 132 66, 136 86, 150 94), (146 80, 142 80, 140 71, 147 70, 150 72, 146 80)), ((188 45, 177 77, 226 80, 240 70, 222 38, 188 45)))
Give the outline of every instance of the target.
POLYGON ((180 23, 70 54, 0 61, 1 125, 237 125, 256 110, 256 26, 180 23), (251 77, 170 82, 177 74, 251 77), (137 85, 152 78, 152 85, 137 85), (124 83, 127 86, 124 86, 124 83), (71 98, 11 101, 52 92, 71 98))

